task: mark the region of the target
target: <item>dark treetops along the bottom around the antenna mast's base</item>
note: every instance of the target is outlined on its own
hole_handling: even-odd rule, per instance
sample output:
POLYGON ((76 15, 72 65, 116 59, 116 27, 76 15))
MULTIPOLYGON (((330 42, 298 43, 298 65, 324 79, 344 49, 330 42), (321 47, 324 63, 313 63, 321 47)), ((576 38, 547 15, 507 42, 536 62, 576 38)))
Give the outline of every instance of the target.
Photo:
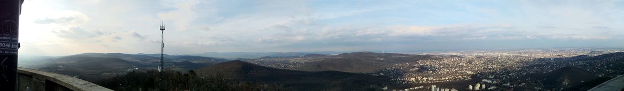
MULTIPOLYGON (((165 71, 165 90, 284 90, 281 85, 263 82, 241 82, 223 76, 197 76, 195 71, 187 73, 165 71)), ((158 71, 130 71, 124 75, 94 82, 111 90, 158 90, 158 71)))

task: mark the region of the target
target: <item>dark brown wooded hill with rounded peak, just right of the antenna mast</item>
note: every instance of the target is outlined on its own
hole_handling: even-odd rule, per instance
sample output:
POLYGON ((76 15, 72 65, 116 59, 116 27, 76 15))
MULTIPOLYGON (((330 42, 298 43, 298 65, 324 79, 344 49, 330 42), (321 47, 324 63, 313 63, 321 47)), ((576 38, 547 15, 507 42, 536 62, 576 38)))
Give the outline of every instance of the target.
POLYGON ((288 90, 379 90, 384 85, 391 85, 389 78, 383 76, 338 71, 306 72, 275 69, 243 61, 230 61, 202 67, 197 70, 197 74, 276 83, 288 90))

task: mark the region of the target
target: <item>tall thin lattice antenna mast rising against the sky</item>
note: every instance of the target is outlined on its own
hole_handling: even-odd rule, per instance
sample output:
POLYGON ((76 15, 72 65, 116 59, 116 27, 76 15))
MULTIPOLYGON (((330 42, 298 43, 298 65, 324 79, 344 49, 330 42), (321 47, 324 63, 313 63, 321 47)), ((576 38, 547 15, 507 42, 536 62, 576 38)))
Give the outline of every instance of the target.
POLYGON ((158 67, 158 71, 160 71, 160 90, 165 90, 165 24, 160 22, 160 67, 158 67))

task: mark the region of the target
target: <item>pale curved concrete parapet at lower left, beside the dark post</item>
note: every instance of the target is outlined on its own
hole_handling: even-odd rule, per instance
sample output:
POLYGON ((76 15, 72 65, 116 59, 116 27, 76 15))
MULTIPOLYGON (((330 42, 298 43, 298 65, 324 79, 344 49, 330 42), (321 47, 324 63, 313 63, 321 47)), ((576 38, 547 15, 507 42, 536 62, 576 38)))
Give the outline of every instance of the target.
POLYGON ((75 77, 34 69, 17 68, 17 90, 110 90, 75 77))

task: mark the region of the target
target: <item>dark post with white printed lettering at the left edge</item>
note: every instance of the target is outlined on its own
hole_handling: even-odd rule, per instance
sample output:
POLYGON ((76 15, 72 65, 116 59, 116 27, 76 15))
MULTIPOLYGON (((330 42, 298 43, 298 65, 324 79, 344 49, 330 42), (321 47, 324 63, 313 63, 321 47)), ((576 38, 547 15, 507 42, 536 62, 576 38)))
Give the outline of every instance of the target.
POLYGON ((17 90, 20 0, 0 0, 0 89, 17 90))

